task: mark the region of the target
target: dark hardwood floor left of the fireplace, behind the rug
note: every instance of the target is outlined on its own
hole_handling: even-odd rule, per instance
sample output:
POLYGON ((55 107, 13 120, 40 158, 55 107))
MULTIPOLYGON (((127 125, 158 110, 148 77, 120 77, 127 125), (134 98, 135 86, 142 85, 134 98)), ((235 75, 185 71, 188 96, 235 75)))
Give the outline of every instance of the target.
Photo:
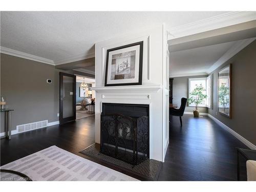
POLYGON ((1 139, 1 165, 15 161, 52 145, 84 157, 79 152, 95 142, 95 117, 87 117, 1 139))

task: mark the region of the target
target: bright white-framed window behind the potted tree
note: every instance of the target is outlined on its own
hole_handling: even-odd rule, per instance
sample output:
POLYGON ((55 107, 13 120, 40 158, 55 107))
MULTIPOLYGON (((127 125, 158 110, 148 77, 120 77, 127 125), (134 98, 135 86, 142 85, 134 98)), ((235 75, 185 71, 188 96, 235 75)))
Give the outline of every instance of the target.
MULTIPOLYGON (((205 89, 203 94, 207 95, 207 98, 204 99, 199 106, 201 107, 211 107, 211 75, 208 77, 202 77, 202 78, 189 78, 188 79, 188 93, 192 92, 197 85, 199 86, 202 84, 203 88, 205 89)), ((188 98, 190 98, 190 95, 188 94, 188 98)), ((191 103, 188 106, 195 106, 195 103, 191 103)))

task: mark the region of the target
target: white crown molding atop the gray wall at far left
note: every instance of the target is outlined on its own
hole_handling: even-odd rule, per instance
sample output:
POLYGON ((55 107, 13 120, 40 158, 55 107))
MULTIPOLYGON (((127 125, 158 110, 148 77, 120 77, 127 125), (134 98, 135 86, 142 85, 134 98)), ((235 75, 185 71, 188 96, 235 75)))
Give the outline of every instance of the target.
POLYGON ((53 60, 50 60, 50 59, 47 59, 44 57, 38 57, 36 55, 31 55, 31 54, 24 53, 21 51, 16 51, 14 49, 9 49, 9 48, 2 47, 2 46, 1 46, 1 53, 7 54, 7 55, 13 55, 16 57, 21 57, 21 58, 25 58, 25 59, 29 59, 29 60, 38 61, 38 62, 46 63, 49 65, 53 65, 53 66, 55 65, 53 60))

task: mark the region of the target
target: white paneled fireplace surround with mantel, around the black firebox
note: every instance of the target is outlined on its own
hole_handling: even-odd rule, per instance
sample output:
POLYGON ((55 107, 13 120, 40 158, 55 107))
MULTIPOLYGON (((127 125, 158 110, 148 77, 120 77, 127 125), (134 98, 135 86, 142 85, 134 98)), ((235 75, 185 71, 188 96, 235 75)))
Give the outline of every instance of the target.
POLYGON ((168 51, 164 26, 95 44, 95 141, 100 143, 102 103, 148 104, 150 158, 164 161, 168 145, 168 51), (106 50, 143 40, 142 85, 104 87, 106 50))

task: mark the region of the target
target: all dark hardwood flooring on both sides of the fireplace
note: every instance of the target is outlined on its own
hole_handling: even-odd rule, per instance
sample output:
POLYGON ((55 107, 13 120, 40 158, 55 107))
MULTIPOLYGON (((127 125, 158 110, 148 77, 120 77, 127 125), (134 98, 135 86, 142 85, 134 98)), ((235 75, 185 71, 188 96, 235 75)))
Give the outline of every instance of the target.
MULTIPOLYGON (((94 143, 94 117, 54 125, 1 139, 1 165, 56 145, 84 157, 79 151, 94 143)), ((236 147, 247 148, 208 117, 172 118, 170 143, 159 180, 236 180, 236 147)))

